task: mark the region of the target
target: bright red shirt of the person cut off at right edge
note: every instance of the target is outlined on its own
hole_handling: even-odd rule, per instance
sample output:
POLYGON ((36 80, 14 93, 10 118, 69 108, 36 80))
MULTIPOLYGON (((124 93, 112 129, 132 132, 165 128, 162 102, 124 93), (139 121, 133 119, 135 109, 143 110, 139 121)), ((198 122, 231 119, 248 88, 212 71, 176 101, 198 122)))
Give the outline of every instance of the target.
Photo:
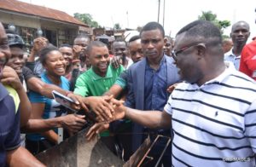
POLYGON ((243 47, 239 71, 256 80, 256 40, 243 47))

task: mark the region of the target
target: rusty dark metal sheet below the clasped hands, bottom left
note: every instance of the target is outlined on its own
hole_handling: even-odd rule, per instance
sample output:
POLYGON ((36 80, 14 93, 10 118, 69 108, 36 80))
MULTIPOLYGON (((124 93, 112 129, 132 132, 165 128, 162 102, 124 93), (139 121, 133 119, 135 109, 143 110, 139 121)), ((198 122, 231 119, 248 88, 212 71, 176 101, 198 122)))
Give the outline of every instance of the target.
POLYGON ((68 138, 36 157, 50 167, 118 167, 125 164, 101 140, 86 141, 88 129, 68 138))

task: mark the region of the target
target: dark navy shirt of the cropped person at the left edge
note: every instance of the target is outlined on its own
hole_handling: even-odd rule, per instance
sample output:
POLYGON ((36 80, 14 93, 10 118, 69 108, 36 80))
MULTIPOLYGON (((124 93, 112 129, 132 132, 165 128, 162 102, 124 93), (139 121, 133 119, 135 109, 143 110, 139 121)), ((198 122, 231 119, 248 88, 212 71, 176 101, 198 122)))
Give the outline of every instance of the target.
POLYGON ((20 147, 20 112, 15 101, 0 83, 0 166, 6 164, 6 152, 20 147))

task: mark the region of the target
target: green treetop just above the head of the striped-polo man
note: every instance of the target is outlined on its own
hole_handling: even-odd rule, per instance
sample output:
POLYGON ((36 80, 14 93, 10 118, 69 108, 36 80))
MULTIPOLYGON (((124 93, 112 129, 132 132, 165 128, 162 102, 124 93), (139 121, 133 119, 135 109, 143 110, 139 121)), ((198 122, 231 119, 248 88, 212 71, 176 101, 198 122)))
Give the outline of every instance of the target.
POLYGON ((218 20, 217 14, 212 14, 212 11, 202 11, 201 15, 198 16, 198 20, 211 21, 215 26, 218 26, 218 29, 222 34, 224 29, 231 25, 229 20, 218 20))

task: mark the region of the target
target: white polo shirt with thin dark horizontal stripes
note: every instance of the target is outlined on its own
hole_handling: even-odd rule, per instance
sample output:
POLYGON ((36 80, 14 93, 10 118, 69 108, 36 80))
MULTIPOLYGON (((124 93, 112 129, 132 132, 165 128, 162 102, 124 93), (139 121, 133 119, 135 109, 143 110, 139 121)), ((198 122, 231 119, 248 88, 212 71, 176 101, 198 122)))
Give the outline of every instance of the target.
POLYGON ((181 83, 172 115, 173 166, 255 166, 256 84, 235 69, 201 85, 181 83))

